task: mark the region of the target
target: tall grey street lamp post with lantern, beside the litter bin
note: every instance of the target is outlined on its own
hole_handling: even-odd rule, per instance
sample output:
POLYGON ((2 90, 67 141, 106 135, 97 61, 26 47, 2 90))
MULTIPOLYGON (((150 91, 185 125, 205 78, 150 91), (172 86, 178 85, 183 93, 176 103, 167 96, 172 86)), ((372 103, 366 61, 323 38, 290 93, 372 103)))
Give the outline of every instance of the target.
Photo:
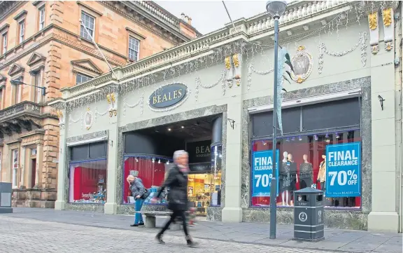
POLYGON ((277 72, 278 72, 278 19, 285 12, 286 1, 267 1, 266 10, 274 18, 274 102, 273 102, 273 177, 270 187, 270 239, 276 239, 277 219, 277 178, 276 178, 276 146, 277 146, 277 72))

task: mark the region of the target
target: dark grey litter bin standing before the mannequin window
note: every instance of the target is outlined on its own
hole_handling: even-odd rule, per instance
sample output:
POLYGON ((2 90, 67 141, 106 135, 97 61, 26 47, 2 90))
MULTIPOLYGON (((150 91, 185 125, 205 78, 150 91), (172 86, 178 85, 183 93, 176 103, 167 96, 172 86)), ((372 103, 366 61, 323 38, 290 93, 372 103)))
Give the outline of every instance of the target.
POLYGON ((294 238, 317 242, 325 239, 323 191, 306 187, 294 192, 294 238))

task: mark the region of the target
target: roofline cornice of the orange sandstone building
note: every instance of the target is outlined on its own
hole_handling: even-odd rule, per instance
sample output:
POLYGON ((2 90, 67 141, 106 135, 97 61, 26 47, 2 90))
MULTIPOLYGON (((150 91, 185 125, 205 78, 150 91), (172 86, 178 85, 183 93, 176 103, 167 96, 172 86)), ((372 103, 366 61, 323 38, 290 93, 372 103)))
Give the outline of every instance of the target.
MULTIPOLYGON (((183 41, 188 41, 189 39, 185 37, 185 39, 180 39, 176 36, 177 40, 169 38, 169 36, 165 35, 160 29, 155 28, 155 26, 147 25, 146 22, 141 20, 140 18, 134 18, 132 14, 129 14, 129 11, 123 11, 121 8, 118 8, 115 6, 113 3, 117 3, 118 1, 99 1, 99 3, 103 4, 104 6, 110 8, 112 11, 115 11, 122 17, 127 18, 128 20, 131 20, 132 22, 136 23, 136 25, 139 25, 140 27, 143 27, 144 29, 147 29, 148 31, 152 32, 153 34, 156 34, 157 36, 160 36, 162 39, 168 41, 169 43, 172 43, 174 45, 178 45, 179 43, 183 41), (178 41, 179 40, 179 41, 178 41)), ((135 11, 133 8, 131 8, 131 11, 135 11)), ((174 34, 173 34, 174 35, 174 34)))

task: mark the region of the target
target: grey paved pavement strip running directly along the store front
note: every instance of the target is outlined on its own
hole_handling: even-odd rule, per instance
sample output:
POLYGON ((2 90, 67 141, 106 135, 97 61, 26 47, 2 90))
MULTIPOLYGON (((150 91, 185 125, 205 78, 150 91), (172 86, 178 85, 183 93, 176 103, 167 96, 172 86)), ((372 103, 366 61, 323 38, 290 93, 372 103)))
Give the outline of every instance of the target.
MULTIPOLYGON (((15 208, 13 214, 1 214, 0 217, 9 219, 20 218, 36 221, 53 221, 62 224, 76 224, 99 228, 116 228, 133 231, 134 233, 157 233, 158 228, 133 228, 131 216, 107 215, 97 212, 57 211, 36 208, 15 208)), ((166 217, 157 217, 157 225, 162 226, 166 217)), ((321 249, 334 252, 358 253, 402 253, 402 234, 371 233, 368 231, 349 231, 335 228, 325 229, 325 240, 320 242, 299 242, 292 240, 292 226, 278 225, 275 240, 269 239, 269 224, 199 221, 190 228, 194 238, 241 242, 253 245, 278 245, 299 249, 321 249)), ((183 231, 169 231, 169 235, 183 236, 183 231)))

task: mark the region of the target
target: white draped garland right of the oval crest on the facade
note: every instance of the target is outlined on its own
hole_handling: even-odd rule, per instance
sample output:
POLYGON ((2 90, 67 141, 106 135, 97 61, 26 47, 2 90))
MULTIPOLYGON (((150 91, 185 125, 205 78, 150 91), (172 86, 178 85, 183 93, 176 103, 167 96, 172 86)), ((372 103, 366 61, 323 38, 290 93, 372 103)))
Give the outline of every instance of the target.
POLYGON ((330 50, 327 50, 325 43, 320 43, 318 45, 319 48, 319 57, 318 57, 318 72, 319 74, 322 74, 322 69, 323 69, 323 55, 326 53, 327 55, 331 55, 334 57, 342 57, 344 55, 347 55, 348 53, 353 52, 355 49, 360 47, 361 49, 361 64, 362 67, 365 67, 367 64, 367 32, 362 32, 360 33, 360 39, 358 40, 358 43, 356 43, 352 48, 341 51, 341 52, 332 52, 330 50))

